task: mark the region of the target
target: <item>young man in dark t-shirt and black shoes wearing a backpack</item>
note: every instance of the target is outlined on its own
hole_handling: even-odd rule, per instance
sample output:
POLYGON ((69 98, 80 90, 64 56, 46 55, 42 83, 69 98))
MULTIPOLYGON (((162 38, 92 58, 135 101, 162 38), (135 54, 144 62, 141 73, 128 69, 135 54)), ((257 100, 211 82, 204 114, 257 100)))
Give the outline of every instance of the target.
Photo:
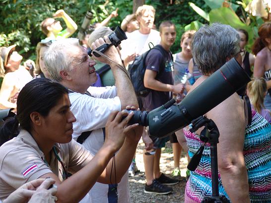
MULTIPOLYGON (((173 85, 173 61, 170 48, 176 39, 175 25, 170 21, 164 21, 159 26, 159 32, 161 42, 156 46, 159 47, 159 50, 151 49, 145 59, 144 86, 150 89, 150 92, 144 98, 143 107, 144 110, 148 111, 172 99, 172 93, 182 94, 184 91, 182 83, 173 85)), ((165 146, 169 138, 159 139, 154 136, 149 138, 149 145, 153 146, 152 150, 155 151, 155 154, 152 155, 147 151, 143 153, 146 176, 144 192, 161 195, 169 194, 172 192, 172 188, 167 185, 175 185, 178 180, 171 179, 160 173, 159 167, 161 148, 165 146)))

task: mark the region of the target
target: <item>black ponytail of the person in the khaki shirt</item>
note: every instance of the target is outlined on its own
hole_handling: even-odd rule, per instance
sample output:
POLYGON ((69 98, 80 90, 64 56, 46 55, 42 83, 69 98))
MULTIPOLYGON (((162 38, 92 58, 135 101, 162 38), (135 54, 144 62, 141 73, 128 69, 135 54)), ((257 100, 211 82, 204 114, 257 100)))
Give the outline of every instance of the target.
POLYGON ((19 134, 19 121, 16 116, 5 120, 0 128, 0 146, 19 134))

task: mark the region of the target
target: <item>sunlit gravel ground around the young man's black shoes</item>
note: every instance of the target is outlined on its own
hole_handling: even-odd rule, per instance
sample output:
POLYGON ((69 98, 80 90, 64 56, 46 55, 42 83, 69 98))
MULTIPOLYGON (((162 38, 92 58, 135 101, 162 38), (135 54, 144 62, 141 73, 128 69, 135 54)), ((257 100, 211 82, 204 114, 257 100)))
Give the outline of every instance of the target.
MULTIPOLYGON (((132 203, 184 203, 184 193, 186 185, 186 167, 187 157, 182 152, 180 169, 181 169, 181 181, 179 184, 172 186, 173 193, 169 195, 156 195, 156 194, 145 194, 145 174, 143 164, 143 149, 144 144, 142 141, 139 142, 136 150, 136 165, 140 170, 134 177, 129 177, 129 187, 132 203)), ((171 144, 166 143, 166 147, 162 148, 162 154, 160 159, 160 169, 164 174, 170 175, 174 169, 173 153, 171 144)))

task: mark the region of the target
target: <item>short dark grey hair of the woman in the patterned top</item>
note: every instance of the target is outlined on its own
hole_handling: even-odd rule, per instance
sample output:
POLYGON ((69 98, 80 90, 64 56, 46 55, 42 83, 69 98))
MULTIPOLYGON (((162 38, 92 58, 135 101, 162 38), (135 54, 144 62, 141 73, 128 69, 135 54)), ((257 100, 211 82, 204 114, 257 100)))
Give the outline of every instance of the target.
POLYGON ((192 55, 204 75, 219 69, 240 51, 238 32, 229 25, 204 25, 194 35, 192 55))

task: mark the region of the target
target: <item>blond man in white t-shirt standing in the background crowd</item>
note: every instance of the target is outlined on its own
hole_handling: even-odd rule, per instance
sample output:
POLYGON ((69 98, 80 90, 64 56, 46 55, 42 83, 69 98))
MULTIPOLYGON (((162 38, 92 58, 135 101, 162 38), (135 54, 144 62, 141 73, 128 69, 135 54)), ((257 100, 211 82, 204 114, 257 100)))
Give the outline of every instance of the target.
POLYGON ((155 9, 151 5, 141 5, 136 9, 136 20, 139 22, 139 30, 128 35, 128 39, 122 42, 122 57, 135 60, 135 53, 141 55, 149 50, 149 43, 154 46, 161 41, 159 32, 153 30, 155 9), (134 56, 133 58, 131 56, 134 56))

